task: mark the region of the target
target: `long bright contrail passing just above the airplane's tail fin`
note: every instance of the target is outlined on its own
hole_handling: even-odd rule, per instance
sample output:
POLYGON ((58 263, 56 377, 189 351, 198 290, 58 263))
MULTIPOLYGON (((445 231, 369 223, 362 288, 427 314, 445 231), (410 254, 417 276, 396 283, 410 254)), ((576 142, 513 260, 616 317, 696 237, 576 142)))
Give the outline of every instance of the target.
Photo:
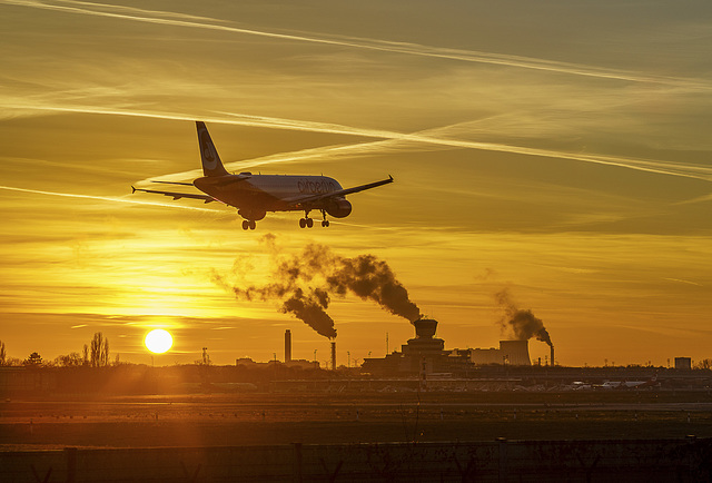
MULTIPOLYGON (((3 0, 0 0, 3 1, 3 0)), ((195 117, 187 115, 171 115, 171 114, 151 114, 139 111, 123 111, 116 109, 97 109, 97 108, 68 108, 68 107, 36 107, 36 106, 20 106, 20 105, 6 105, 6 108, 21 108, 21 109, 36 109, 44 111, 56 112, 86 112, 86 114, 102 114, 112 116, 131 116, 142 118, 155 119, 171 119, 171 120, 189 120, 195 121, 195 117)), ((592 162, 597 165, 615 166, 620 168, 634 169, 639 171, 654 172, 659 175, 678 176, 683 178, 701 179, 704 181, 712 181, 712 168, 705 166, 682 165, 672 161, 660 161, 653 159, 633 159, 623 158, 617 156, 603 156, 603 155, 584 155, 581 152, 570 151, 556 151, 550 149, 527 148, 523 146, 503 145, 497 142, 482 142, 482 141, 468 141, 458 139, 438 138, 435 136, 427 136, 422 134, 403 134, 396 131, 388 131, 382 129, 365 129, 355 128, 349 126, 342 126, 329 122, 313 122, 295 119, 283 119, 267 116, 249 116, 239 114, 226 114, 230 119, 225 118, 202 118, 207 122, 226 124, 235 126, 250 126, 250 127, 264 127, 273 129, 288 129, 299 130, 308 132, 327 132, 350 135, 360 137, 372 137, 379 139, 392 139, 399 141, 411 141, 419 144, 429 144, 437 146, 448 146, 455 148, 465 149, 479 149, 485 151, 498 151, 498 152, 512 152, 516 155, 526 155, 544 158, 557 158, 567 159, 573 161, 592 162)))

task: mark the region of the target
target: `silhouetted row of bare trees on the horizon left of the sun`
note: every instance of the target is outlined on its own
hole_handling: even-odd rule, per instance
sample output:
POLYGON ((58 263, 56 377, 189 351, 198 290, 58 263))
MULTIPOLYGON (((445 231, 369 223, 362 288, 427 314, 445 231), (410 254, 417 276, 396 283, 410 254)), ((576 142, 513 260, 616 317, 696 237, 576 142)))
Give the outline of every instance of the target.
MULTIPOLYGON (((116 362, 118 363, 118 355, 116 362)), ((33 352, 27 358, 8 357, 4 342, 0 341, 0 366, 56 366, 56 367, 106 367, 110 365, 109 338, 102 333, 93 334, 89 344, 85 344, 82 352, 71 352, 66 355, 55 357, 51 362, 42 361, 42 356, 33 352)))

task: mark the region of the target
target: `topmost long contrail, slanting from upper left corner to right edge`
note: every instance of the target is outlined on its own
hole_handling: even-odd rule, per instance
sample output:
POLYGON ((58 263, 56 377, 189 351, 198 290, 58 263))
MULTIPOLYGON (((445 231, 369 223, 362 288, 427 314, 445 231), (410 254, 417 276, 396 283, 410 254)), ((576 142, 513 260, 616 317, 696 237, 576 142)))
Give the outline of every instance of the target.
POLYGON ((693 89, 712 89, 709 82, 698 79, 684 79, 673 78, 664 76, 645 76, 635 72, 616 70, 616 69, 603 69, 594 66, 585 66, 570 62, 560 62, 546 59, 530 58, 523 56, 511 56, 502 53, 482 52, 474 50, 459 50, 448 49, 441 47, 423 46, 412 42, 394 42, 379 39, 366 39, 358 37, 337 37, 337 36, 318 36, 314 33, 278 33, 265 30, 245 29, 238 27, 229 27, 226 24, 216 24, 202 22, 222 22, 227 21, 196 17, 184 13, 176 13, 160 10, 145 10, 131 7, 117 7, 107 6, 102 3, 81 2, 75 0, 56 0, 53 3, 50 1, 40 0, 0 0, 0 3, 21 6, 44 10, 63 11, 69 13, 97 16, 97 17, 110 17, 116 19, 123 19, 130 21, 168 24, 174 27, 186 27, 206 30, 217 30, 231 33, 251 34, 259 37, 268 37, 273 39, 322 43, 328 46, 349 47, 365 50, 377 50, 393 53, 404 53, 419 57, 431 57, 447 60, 456 60, 464 62, 475 63, 490 63, 505 67, 516 67, 523 69, 544 70, 558 73, 567 73, 574 76, 595 77, 603 79, 624 80, 632 82, 647 82, 647 83, 661 83, 671 86, 682 86, 693 89), (63 3, 63 4, 58 4, 63 3), (103 10, 96 10, 100 8, 103 10), (106 11, 109 10, 109 11, 106 11), (150 16, 150 17, 149 17, 150 16), (200 21, 195 21, 200 20, 200 21))

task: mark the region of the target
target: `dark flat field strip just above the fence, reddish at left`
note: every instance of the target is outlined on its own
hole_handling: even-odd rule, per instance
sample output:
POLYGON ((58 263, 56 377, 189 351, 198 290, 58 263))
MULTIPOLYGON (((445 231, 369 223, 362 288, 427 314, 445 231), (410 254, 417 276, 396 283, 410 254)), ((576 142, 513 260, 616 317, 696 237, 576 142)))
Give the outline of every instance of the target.
POLYGON ((699 392, 222 394, 0 403, 0 450, 712 436, 699 392))

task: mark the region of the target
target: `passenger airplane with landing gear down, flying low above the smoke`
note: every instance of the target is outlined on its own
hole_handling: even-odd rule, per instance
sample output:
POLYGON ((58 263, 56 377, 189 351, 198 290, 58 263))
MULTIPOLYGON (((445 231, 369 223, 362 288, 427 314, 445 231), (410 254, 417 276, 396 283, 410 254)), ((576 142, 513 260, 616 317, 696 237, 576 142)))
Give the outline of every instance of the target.
POLYGON ((265 218, 267 211, 304 211, 304 218, 299 219, 299 227, 312 228, 314 226, 314 219, 309 218, 312 210, 320 211, 322 226, 328 227, 327 214, 334 218, 346 218, 350 215, 352 204, 346 199, 346 195, 393 183, 393 176, 388 176, 380 181, 344 189, 336 179, 327 176, 229 174, 220 161, 205 122, 196 121, 196 127, 205 176, 192 183, 152 183, 195 186, 204 194, 162 191, 131 186, 132 193, 152 193, 170 196, 174 199, 201 199, 205 203, 220 201, 237 208, 237 213, 245 218, 243 221, 245 230, 255 229, 256 221, 265 218))

